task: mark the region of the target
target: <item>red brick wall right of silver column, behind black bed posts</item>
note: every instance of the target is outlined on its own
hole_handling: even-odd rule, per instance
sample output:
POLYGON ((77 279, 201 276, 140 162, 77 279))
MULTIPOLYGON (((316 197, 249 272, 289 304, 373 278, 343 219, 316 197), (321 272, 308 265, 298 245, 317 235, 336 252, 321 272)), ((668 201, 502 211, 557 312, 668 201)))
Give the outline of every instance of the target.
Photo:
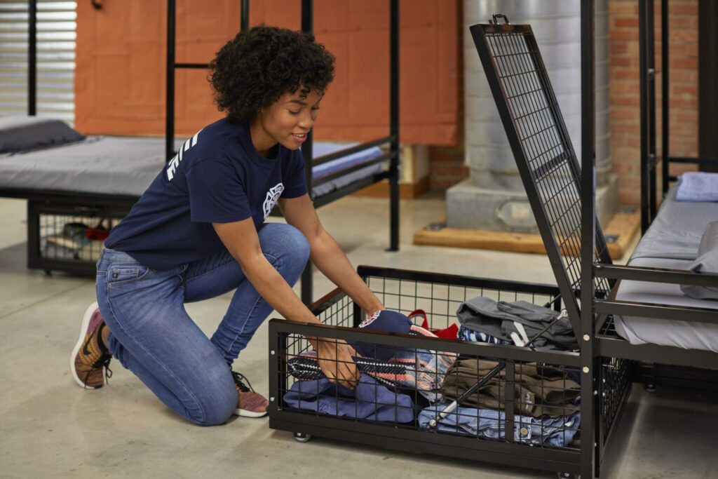
MULTIPOLYGON (((666 0, 663 0, 666 1, 666 0)), ((656 1, 656 69, 661 67, 660 1, 656 1)), ((619 201, 640 203, 640 80, 638 1, 609 0, 610 121, 612 171, 619 177, 619 201)), ((698 0, 670 0, 668 57, 671 156, 698 152, 698 0)), ((661 153, 661 83, 656 82, 657 151, 661 153)))

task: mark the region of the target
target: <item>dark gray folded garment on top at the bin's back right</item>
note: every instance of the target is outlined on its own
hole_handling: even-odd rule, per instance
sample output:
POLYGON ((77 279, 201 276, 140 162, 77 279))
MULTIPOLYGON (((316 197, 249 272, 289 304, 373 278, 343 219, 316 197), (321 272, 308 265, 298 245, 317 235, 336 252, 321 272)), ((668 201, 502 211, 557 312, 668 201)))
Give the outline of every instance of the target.
MULTIPOLYGON (((462 302, 456 314, 459 322, 470 330, 523 345, 555 320, 559 312, 526 301, 497 302, 480 296, 462 302)), ((533 340, 533 345, 541 350, 575 350, 579 347, 567 317, 533 340)))

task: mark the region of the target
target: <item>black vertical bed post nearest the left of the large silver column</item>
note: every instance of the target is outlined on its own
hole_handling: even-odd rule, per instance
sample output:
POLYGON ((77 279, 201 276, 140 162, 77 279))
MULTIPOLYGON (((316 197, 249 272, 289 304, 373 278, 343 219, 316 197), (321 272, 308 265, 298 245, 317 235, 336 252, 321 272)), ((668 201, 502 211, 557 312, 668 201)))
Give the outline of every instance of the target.
POLYGON ((389 15, 389 163, 390 240, 388 251, 399 249, 399 1, 391 0, 389 15))

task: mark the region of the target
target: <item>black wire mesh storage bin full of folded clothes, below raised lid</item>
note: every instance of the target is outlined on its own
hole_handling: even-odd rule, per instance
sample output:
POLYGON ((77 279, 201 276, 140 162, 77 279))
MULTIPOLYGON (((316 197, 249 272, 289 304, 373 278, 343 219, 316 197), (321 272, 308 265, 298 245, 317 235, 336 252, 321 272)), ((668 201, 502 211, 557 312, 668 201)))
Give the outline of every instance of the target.
MULTIPOLYGON (((546 285, 368 266, 358 271, 389 310, 424 310, 429 330, 456 323, 457 307, 474 297, 562 307, 558 289, 546 285)), ((582 443, 594 446, 593 438, 579 434, 584 411, 577 352, 358 329, 365 317, 338 289, 312 309, 323 325, 269 322, 274 429, 292 432, 299 441, 316 435, 567 475, 579 473, 582 443), (348 393, 322 379, 306 336, 346 340, 362 350, 355 360, 365 383, 348 393), (398 359, 381 361, 381 351, 398 359), (432 427, 447 398, 500 363, 504 367, 480 394, 432 427)), ((628 363, 602 358, 597 367, 604 387, 596 434, 607 437, 630 391, 628 363)), ((591 421, 592 413, 585 414, 591 421)))

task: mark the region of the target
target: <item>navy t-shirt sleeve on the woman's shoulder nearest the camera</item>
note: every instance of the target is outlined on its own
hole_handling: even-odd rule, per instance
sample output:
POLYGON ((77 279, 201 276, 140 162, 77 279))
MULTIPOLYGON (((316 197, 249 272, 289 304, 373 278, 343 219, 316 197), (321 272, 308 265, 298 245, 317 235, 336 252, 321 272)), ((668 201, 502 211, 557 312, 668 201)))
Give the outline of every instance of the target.
POLYGON ((187 170, 190 218, 231 223, 251 216, 244 185, 227 159, 205 159, 187 170))

